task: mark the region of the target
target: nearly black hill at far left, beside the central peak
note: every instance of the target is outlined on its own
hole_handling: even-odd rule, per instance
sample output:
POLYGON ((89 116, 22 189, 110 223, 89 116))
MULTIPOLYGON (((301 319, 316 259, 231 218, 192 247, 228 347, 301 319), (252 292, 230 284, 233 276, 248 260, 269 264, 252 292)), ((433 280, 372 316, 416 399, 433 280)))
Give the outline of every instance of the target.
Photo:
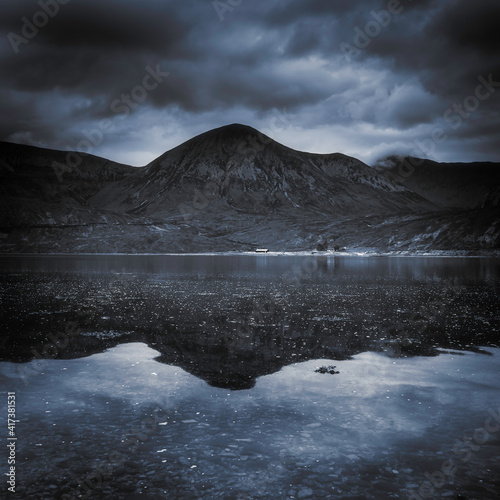
POLYGON ((108 221, 88 200, 107 184, 133 173, 134 168, 84 153, 74 158, 80 163, 69 166, 67 152, 0 143, 1 225, 108 221))

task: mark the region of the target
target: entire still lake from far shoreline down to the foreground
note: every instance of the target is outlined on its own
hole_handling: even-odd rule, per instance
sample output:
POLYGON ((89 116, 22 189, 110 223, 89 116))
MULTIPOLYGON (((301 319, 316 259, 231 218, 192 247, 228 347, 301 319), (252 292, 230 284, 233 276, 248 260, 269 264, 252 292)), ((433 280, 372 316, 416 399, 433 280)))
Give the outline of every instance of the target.
POLYGON ((498 498, 499 278, 474 258, 3 257, 16 492, 498 498))

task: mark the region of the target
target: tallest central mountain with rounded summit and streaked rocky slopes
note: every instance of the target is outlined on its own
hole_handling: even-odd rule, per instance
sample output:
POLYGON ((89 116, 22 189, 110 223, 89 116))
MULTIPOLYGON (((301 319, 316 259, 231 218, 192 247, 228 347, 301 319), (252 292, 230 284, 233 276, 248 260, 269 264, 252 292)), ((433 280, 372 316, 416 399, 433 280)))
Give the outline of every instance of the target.
POLYGON ((431 207, 354 158, 294 151, 244 125, 195 137, 91 201, 108 210, 158 217, 175 214, 180 204, 193 204, 196 196, 215 201, 219 210, 262 215, 296 209, 350 215, 431 207), (131 196, 134 191, 140 197, 131 196))

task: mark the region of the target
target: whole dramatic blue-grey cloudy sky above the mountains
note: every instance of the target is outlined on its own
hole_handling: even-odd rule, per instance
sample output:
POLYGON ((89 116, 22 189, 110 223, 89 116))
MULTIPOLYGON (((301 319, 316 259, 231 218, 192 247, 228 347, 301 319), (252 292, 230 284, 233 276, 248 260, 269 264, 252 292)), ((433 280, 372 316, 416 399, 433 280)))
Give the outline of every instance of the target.
POLYGON ((368 163, 500 161, 499 21, 498 0, 1 0, 0 140, 142 165, 238 122, 368 163))

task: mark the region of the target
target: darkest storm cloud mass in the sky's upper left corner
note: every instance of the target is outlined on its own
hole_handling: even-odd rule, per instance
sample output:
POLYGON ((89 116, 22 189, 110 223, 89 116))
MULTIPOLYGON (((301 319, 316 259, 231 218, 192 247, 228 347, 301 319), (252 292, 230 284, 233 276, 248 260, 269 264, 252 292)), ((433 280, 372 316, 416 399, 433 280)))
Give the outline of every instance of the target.
MULTIPOLYGON (((0 29, 21 33, 26 2, 2 16, 0 29), (22 9, 23 7, 23 9, 22 9)), ((35 2, 34 12, 40 10, 35 2)), ((192 57, 187 21, 163 2, 72 0, 40 28, 18 54, 4 49, 1 80, 18 90, 76 89, 93 95, 127 88, 145 65, 159 58, 192 57), (123 83, 120 83, 123 82, 123 83)))

